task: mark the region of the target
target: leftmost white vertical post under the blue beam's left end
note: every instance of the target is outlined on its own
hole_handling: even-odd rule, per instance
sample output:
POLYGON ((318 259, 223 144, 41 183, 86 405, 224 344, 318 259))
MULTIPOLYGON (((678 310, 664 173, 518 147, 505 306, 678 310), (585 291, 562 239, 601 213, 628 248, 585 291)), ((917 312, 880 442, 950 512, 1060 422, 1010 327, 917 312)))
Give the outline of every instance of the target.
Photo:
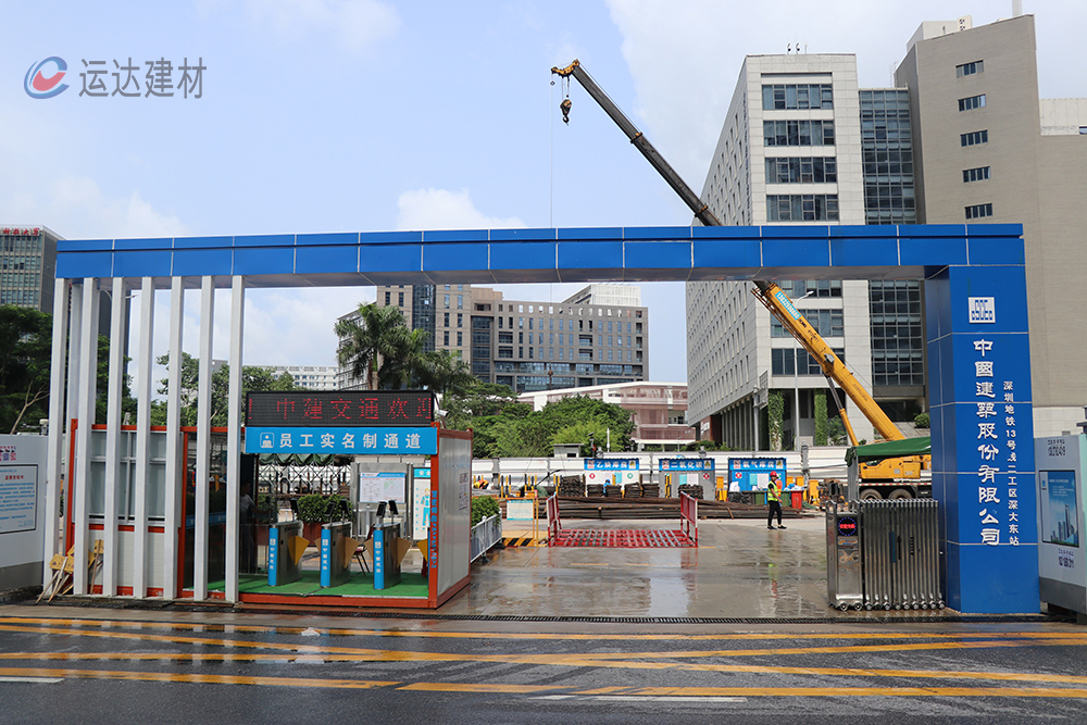
MULTIPOLYGON (((57 553, 58 502, 63 492, 64 434, 67 418, 64 416, 64 349, 67 347, 68 328, 68 280, 53 283, 53 349, 49 368, 49 441, 46 457, 46 541, 42 554, 41 584, 45 586, 52 576, 49 562, 57 553)), ((71 502, 68 502, 71 503, 71 502)))

